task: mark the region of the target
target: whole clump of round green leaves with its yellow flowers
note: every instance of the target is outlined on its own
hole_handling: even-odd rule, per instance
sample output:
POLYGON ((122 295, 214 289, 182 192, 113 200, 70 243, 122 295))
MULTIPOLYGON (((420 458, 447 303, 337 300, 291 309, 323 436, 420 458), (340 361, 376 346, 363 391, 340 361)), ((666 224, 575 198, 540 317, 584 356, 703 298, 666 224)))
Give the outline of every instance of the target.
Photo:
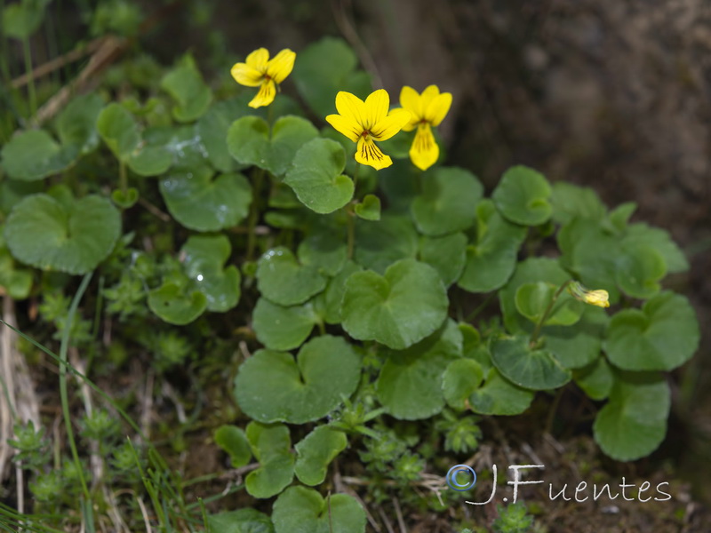
MULTIPOLYGON (((404 87, 391 108, 340 40, 269 58, 260 49, 232 68, 256 95, 213 90, 190 56, 165 71, 149 62, 140 85, 109 75, 0 153, 0 290, 41 298, 65 354, 107 350, 119 367, 143 351, 162 372, 199 366, 218 342, 256 349, 225 383, 241 415, 214 440, 234 467, 252 465, 247 494, 276 500, 271 516, 206 516, 212 530, 363 531, 355 497, 314 489, 349 447, 369 497, 416 501, 442 457, 475 451, 480 417, 521 415, 571 383, 604 402, 604 453, 656 449, 663 372, 699 343, 687 298, 660 284, 688 267, 667 232, 631 222, 634 203, 609 210, 525 166, 485 195, 471 171, 443 164, 435 128, 451 95, 404 87), (277 94, 290 82, 299 99, 277 94), (76 314, 87 289, 94 310, 76 314), (116 322, 110 349, 102 316, 116 322)), ((107 410, 80 427, 117 479, 145 465, 107 410)), ((36 471, 37 500, 67 505, 86 465, 46 468, 43 439, 26 427, 11 443, 36 471)), ((161 461, 148 461, 140 476, 170 521, 161 461)), ((455 497, 440 491, 427 505, 455 497)), ((494 530, 530 523, 512 506, 494 530)))

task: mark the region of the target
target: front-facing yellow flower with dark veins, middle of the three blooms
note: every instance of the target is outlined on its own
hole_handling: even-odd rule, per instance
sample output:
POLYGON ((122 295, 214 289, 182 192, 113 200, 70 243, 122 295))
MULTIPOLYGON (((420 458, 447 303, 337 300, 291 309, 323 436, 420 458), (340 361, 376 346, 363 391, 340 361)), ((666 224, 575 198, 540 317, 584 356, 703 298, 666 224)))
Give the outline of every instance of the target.
POLYGON ((336 95, 339 115, 326 117, 336 131, 358 143, 356 161, 376 171, 390 166, 393 160, 373 141, 390 139, 410 120, 410 112, 393 109, 388 113, 389 108, 390 97, 384 89, 371 92, 364 102, 350 92, 340 91, 336 95))

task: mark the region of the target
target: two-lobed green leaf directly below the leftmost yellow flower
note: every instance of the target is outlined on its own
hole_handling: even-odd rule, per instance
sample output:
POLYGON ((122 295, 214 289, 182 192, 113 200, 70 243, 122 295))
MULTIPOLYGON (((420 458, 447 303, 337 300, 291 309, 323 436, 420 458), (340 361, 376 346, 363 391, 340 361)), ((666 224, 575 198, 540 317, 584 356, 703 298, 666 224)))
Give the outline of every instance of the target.
POLYGON ((238 163, 253 164, 281 176, 300 147, 314 139, 314 125, 298 116, 282 116, 269 135, 268 123, 258 116, 243 116, 228 130, 228 151, 238 163))

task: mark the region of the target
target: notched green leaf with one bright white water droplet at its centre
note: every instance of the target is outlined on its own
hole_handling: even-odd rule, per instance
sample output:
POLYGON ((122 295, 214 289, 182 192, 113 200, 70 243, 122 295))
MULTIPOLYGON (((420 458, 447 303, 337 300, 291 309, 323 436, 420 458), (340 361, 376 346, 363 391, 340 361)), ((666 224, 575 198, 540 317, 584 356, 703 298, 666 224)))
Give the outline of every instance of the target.
POLYGON ((225 268, 232 246, 225 235, 196 235, 180 249, 185 274, 207 300, 207 310, 224 313, 237 305, 242 276, 235 265, 225 268))

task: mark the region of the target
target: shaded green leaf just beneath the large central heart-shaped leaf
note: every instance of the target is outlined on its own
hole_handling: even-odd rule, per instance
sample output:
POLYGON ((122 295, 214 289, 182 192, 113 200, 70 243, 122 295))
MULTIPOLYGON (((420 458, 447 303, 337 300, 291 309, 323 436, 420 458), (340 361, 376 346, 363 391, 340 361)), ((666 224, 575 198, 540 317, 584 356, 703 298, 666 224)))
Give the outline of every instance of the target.
POLYGON ((461 349, 461 331, 448 321, 416 345, 388 353, 375 383, 379 402, 399 420, 436 415, 444 407, 443 372, 461 349))

